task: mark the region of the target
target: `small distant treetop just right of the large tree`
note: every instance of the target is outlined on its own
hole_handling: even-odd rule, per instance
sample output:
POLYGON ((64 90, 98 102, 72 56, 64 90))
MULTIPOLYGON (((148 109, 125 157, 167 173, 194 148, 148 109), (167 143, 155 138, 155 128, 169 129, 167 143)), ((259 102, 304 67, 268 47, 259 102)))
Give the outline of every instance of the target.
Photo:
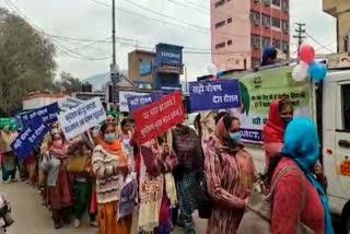
POLYGON ((74 78, 70 73, 63 71, 60 73, 60 79, 55 81, 52 91, 58 92, 63 89, 69 93, 80 92, 81 86, 82 86, 82 82, 78 78, 74 78))

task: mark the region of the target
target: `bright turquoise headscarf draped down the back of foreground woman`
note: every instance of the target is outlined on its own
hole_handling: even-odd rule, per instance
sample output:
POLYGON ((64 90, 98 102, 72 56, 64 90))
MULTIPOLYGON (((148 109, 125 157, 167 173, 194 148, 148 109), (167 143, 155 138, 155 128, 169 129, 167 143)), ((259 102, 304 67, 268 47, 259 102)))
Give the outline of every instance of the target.
POLYGON ((316 188, 325 210, 325 234, 332 234, 334 230, 325 190, 312 174, 319 154, 317 130, 311 119, 295 118, 288 125, 282 154, 291 157, 316 188))

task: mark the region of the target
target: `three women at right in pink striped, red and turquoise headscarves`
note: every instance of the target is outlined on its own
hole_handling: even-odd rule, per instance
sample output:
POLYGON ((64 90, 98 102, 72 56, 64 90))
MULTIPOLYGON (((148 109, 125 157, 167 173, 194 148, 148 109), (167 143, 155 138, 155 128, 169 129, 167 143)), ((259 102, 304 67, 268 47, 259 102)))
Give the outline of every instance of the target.
MULTIPOLYGON (((240 139, 240 119, 225 113, 218 116, 214 132, 202 141, 205 177, 212 200, 207 233, 236 233, 253 186, 261 180, 265 192, 276 184, 271 191, 272 234, 294 234, 299 221, 316 234, 332 234, 327 179, 318 162, 319 142, 314 122, 307 118, 293 119, 288 98, 272 102, 262 129, 266 175, 261 177, 240 139)), ((206 125, 206 118, 197 122, 199 132, 206 125)))

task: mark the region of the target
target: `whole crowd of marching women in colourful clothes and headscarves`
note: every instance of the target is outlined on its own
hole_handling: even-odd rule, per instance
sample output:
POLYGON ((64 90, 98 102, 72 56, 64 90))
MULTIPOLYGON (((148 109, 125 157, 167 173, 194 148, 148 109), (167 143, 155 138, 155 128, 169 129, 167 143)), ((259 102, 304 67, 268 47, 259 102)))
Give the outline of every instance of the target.
POLYGON ((15 134, 15 129, 1 131, 2 179, 15 182, 20 168, 22 179, 37 184, 55 229, 71 219, 78 229, 88 212, 100 234, 167 234, 175 224, 194 234, 198 210, 208 219, 208 234, 236 233, 250 191, 261 182, 265 192, 273 187, 272 234, 294 234, 298 222, 316 234, 334 232, 316 127, 310 119, 293 118, 287 98, 272 102, 262 130, 264 176, 241 140, 240 119, 225 112, 198 114, 195 128, 182 122, 143 144, 131 118, 117 125, 107 116, 102 126, 70 141, 55 122, 24 162, 7 148, 7 139, 15 134), (129 175, 138 183, 137 206, 133 214, 118 218, 129 175))

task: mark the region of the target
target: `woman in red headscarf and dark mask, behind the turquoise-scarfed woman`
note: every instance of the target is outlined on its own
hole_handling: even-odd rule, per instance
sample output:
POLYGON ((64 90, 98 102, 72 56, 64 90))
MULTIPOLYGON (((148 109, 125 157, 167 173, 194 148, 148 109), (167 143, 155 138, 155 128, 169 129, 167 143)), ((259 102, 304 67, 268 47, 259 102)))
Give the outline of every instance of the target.
POLYGON ((293 106, 288 98, 276 100, 270 105, 267 124, 262 130, 266 168, 271 156, 281 152, 288 122, 293 119, 293 106))

